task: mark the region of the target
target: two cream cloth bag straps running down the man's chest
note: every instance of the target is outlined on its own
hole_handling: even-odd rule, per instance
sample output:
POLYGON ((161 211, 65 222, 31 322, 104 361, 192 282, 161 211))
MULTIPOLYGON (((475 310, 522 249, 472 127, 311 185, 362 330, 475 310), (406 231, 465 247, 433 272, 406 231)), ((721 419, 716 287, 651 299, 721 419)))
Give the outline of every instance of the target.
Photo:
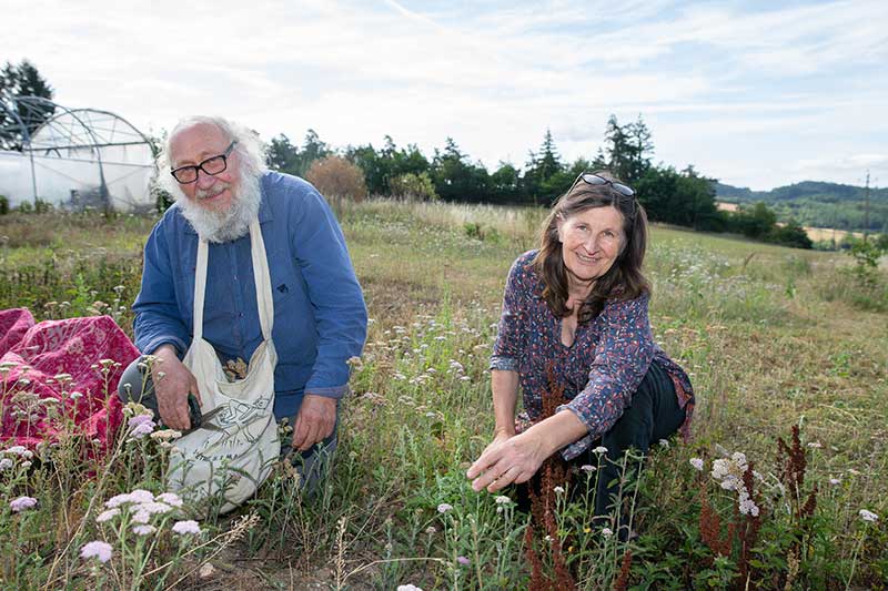
MULTIPOLYGON (((256 306, 259 307, 259 324, 262 327, 262 338, 271 340, 274 328, 274 298, 271 294, 271 273, 269 258, 265 255, 265 241, 262 240, 262 230, 259 218, 250 223, 250 255, 253 259, 253 283, 256 288, 256 306)), ((206 266, 210 258, 210 247, 205 240, 198 242, 198 266, 194 275, 194 340, 203 338, 203 304, 206 293, 206 266)))

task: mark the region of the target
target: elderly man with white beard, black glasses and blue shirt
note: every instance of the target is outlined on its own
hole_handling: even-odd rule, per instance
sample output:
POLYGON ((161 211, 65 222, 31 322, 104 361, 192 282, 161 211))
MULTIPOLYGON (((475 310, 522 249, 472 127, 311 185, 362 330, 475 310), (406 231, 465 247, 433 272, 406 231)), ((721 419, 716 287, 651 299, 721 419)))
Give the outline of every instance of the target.
MULTIPOLYGON (((209 244, 202 338, 223 365, 251 359, 264 340, 251 258, 250 226, 258 217, 274 310, 274 416, 290 418, 292 448, 306 463, 315 444, 332 450, 347 360, 361 354, 367 317, 345 240, 324 198, 301 179, 266 171, 256 135, 223 119, 181 121, 159 166, 176 202, 145 244, 133 309, 135 345, 159 361, 148 381, 161 419, 188 430, 199 416, 193 407, 204 385, 182 363, 194 336, 199 238, 209 244)), ((131 367, 121 380, 130 395, 141 390, 138 371, 131 367)))

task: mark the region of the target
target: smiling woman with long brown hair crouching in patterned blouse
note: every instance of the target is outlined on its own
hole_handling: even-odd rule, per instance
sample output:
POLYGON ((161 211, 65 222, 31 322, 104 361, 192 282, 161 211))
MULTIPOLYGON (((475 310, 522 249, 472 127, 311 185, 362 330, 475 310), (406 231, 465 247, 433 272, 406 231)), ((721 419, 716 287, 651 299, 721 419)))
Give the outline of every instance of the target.
POLYGON ((607 172, 581 174, 555 203, 539 249, 519 256, 508 274, 491 358, 496 430, 466 475, 475 490, 525 482, 556 451, 594 466, 593 447, 604 446, 610 461, 595 499, 602 516, 627 449, 646 454, 679 429, 687 436, 694 394, 650 334, 646 243, 635 192, 607 172), (533 422, 519 432, 518 385, 533 422), (553 386, 569 401, 539 420, 553 386))

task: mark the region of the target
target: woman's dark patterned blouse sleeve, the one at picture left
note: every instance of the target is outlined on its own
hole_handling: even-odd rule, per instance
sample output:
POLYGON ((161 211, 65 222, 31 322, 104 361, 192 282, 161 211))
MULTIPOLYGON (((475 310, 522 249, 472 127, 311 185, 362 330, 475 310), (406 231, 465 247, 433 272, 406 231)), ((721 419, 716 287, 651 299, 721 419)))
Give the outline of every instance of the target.
POLYGON ((525 257, 513 263, 503 294, 503 312, 491 356, 491 369, 518 370, 527 318, 525 257))

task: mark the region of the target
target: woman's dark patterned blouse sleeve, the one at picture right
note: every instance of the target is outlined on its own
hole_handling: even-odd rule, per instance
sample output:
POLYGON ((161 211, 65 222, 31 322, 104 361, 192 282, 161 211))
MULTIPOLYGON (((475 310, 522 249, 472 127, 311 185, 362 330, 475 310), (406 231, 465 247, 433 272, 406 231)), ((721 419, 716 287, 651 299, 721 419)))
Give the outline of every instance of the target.
POLYGON ((602 312, 604 326, 595 349, 586 387, 557 408, 574 412, 588 435, 562 450, 571 460, 607 432, 642 384, 654 358, 654 338, 647 315, 648 296, 608 302, 602 312))

